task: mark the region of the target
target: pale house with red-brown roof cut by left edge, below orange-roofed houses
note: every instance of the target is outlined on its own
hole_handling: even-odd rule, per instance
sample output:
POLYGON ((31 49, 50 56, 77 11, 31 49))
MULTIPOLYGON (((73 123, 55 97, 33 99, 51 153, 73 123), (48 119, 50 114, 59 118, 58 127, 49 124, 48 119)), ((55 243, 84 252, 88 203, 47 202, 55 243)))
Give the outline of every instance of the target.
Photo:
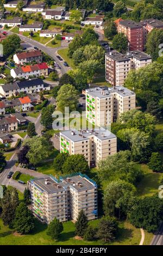
POLYGON ((17 130, 17 119, 15 115, 12 117, 0 118, 0 131, 1 132, 11 132, 17 130))

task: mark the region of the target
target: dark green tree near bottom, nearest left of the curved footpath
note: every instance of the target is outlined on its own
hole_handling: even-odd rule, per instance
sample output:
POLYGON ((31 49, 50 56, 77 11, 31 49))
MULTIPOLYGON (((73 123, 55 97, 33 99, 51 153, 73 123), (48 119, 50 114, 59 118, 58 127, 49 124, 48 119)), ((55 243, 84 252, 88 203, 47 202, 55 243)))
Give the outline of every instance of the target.
POLYGON ((97 236, 100 239, 103 239, 105 242, 115 239, 117 233, 117 222, 115 218, 111 217, 102 217, 99 225, 98 225, 98 231, 97 236))

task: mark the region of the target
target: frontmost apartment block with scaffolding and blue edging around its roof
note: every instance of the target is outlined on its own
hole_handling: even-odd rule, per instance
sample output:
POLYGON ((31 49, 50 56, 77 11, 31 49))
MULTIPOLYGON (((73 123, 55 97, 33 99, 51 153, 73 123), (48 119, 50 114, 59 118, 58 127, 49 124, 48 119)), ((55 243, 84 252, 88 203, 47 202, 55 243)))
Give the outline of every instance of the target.
POLYGON ((97 218, 97 184, 84 174, 53 176, 28 181, 33 214, 42 222, 76 221, 84 210, 88 220, 97 218))

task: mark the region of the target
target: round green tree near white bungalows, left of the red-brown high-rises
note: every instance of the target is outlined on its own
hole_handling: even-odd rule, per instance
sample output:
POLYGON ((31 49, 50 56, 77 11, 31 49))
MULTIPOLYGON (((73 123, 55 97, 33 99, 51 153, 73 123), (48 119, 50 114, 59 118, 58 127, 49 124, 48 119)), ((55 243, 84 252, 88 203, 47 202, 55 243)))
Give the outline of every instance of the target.
POLYGON ((94 45, 98 37, 98 34, 92 28, 87 28, 82 35, 83 45, 94 45))

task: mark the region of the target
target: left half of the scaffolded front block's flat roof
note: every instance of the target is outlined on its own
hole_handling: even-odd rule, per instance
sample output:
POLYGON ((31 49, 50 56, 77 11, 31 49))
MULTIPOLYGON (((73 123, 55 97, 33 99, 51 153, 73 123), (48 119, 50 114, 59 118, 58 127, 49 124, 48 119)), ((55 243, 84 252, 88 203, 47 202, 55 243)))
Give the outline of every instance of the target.
POLYGON ((53 180, 50 176, 47 178, 34 179, 31 182, 47 193, 55 193, 64 190, 64 185, 62 185, 61 182, 53 180), (46 181, 47 185, 45 184, 46 181))

